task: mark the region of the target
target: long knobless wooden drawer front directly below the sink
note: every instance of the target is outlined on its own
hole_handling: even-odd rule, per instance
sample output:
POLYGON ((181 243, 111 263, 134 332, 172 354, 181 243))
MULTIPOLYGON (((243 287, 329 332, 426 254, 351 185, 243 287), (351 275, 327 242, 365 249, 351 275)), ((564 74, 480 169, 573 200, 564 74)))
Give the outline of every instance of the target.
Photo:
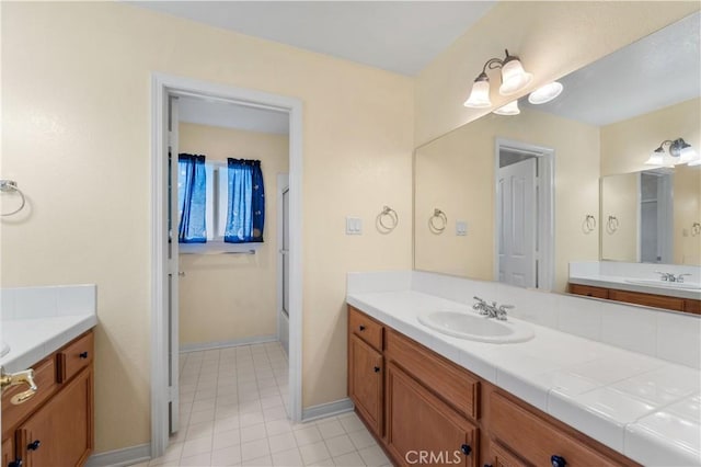
POLYGON ((404 335, 388 330, 384 355, 459 412, 479 419, 480 383, 467 369, 404 335))

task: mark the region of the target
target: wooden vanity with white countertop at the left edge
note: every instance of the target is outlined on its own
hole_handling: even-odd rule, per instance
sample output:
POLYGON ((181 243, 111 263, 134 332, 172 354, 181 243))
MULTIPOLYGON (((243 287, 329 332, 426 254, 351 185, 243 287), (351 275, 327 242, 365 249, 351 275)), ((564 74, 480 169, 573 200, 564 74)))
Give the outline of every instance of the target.
POLYGON ((33 369, 36 386, 2 391, 2 467, 81 466, 94 445, 95 286, 2 295, 3 376, 33 369))

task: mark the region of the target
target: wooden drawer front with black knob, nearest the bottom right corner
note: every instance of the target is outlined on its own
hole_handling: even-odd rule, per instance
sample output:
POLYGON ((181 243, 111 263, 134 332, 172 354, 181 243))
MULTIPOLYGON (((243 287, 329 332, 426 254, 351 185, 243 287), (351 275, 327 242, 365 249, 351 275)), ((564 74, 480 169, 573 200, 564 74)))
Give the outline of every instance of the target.
POLYGON ((570 467, 620 465, 584 445, 584 436, 563 432, 497 392, 491 395, 490 413, 492 434, 536 466, 551 465, 552 456, 564 458, 570 467))

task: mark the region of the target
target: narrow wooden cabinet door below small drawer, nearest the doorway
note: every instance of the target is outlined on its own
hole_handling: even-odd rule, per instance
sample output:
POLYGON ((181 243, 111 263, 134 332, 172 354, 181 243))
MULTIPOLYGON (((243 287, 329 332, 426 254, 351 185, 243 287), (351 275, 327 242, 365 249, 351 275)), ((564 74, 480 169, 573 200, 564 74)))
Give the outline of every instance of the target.
POLYGON ((350 334, 348 345, 348 392, 356 409, 382 436, 382 355, 357 335, 350 334))

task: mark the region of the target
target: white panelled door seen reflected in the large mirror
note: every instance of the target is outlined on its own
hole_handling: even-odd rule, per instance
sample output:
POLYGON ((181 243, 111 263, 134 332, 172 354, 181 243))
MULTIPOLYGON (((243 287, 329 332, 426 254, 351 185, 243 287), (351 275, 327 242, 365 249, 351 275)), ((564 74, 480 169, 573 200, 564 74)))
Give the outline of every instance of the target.
POLYGON ((499 282, 537 287, 537 159, 499 168, 497 185, 499 282))

